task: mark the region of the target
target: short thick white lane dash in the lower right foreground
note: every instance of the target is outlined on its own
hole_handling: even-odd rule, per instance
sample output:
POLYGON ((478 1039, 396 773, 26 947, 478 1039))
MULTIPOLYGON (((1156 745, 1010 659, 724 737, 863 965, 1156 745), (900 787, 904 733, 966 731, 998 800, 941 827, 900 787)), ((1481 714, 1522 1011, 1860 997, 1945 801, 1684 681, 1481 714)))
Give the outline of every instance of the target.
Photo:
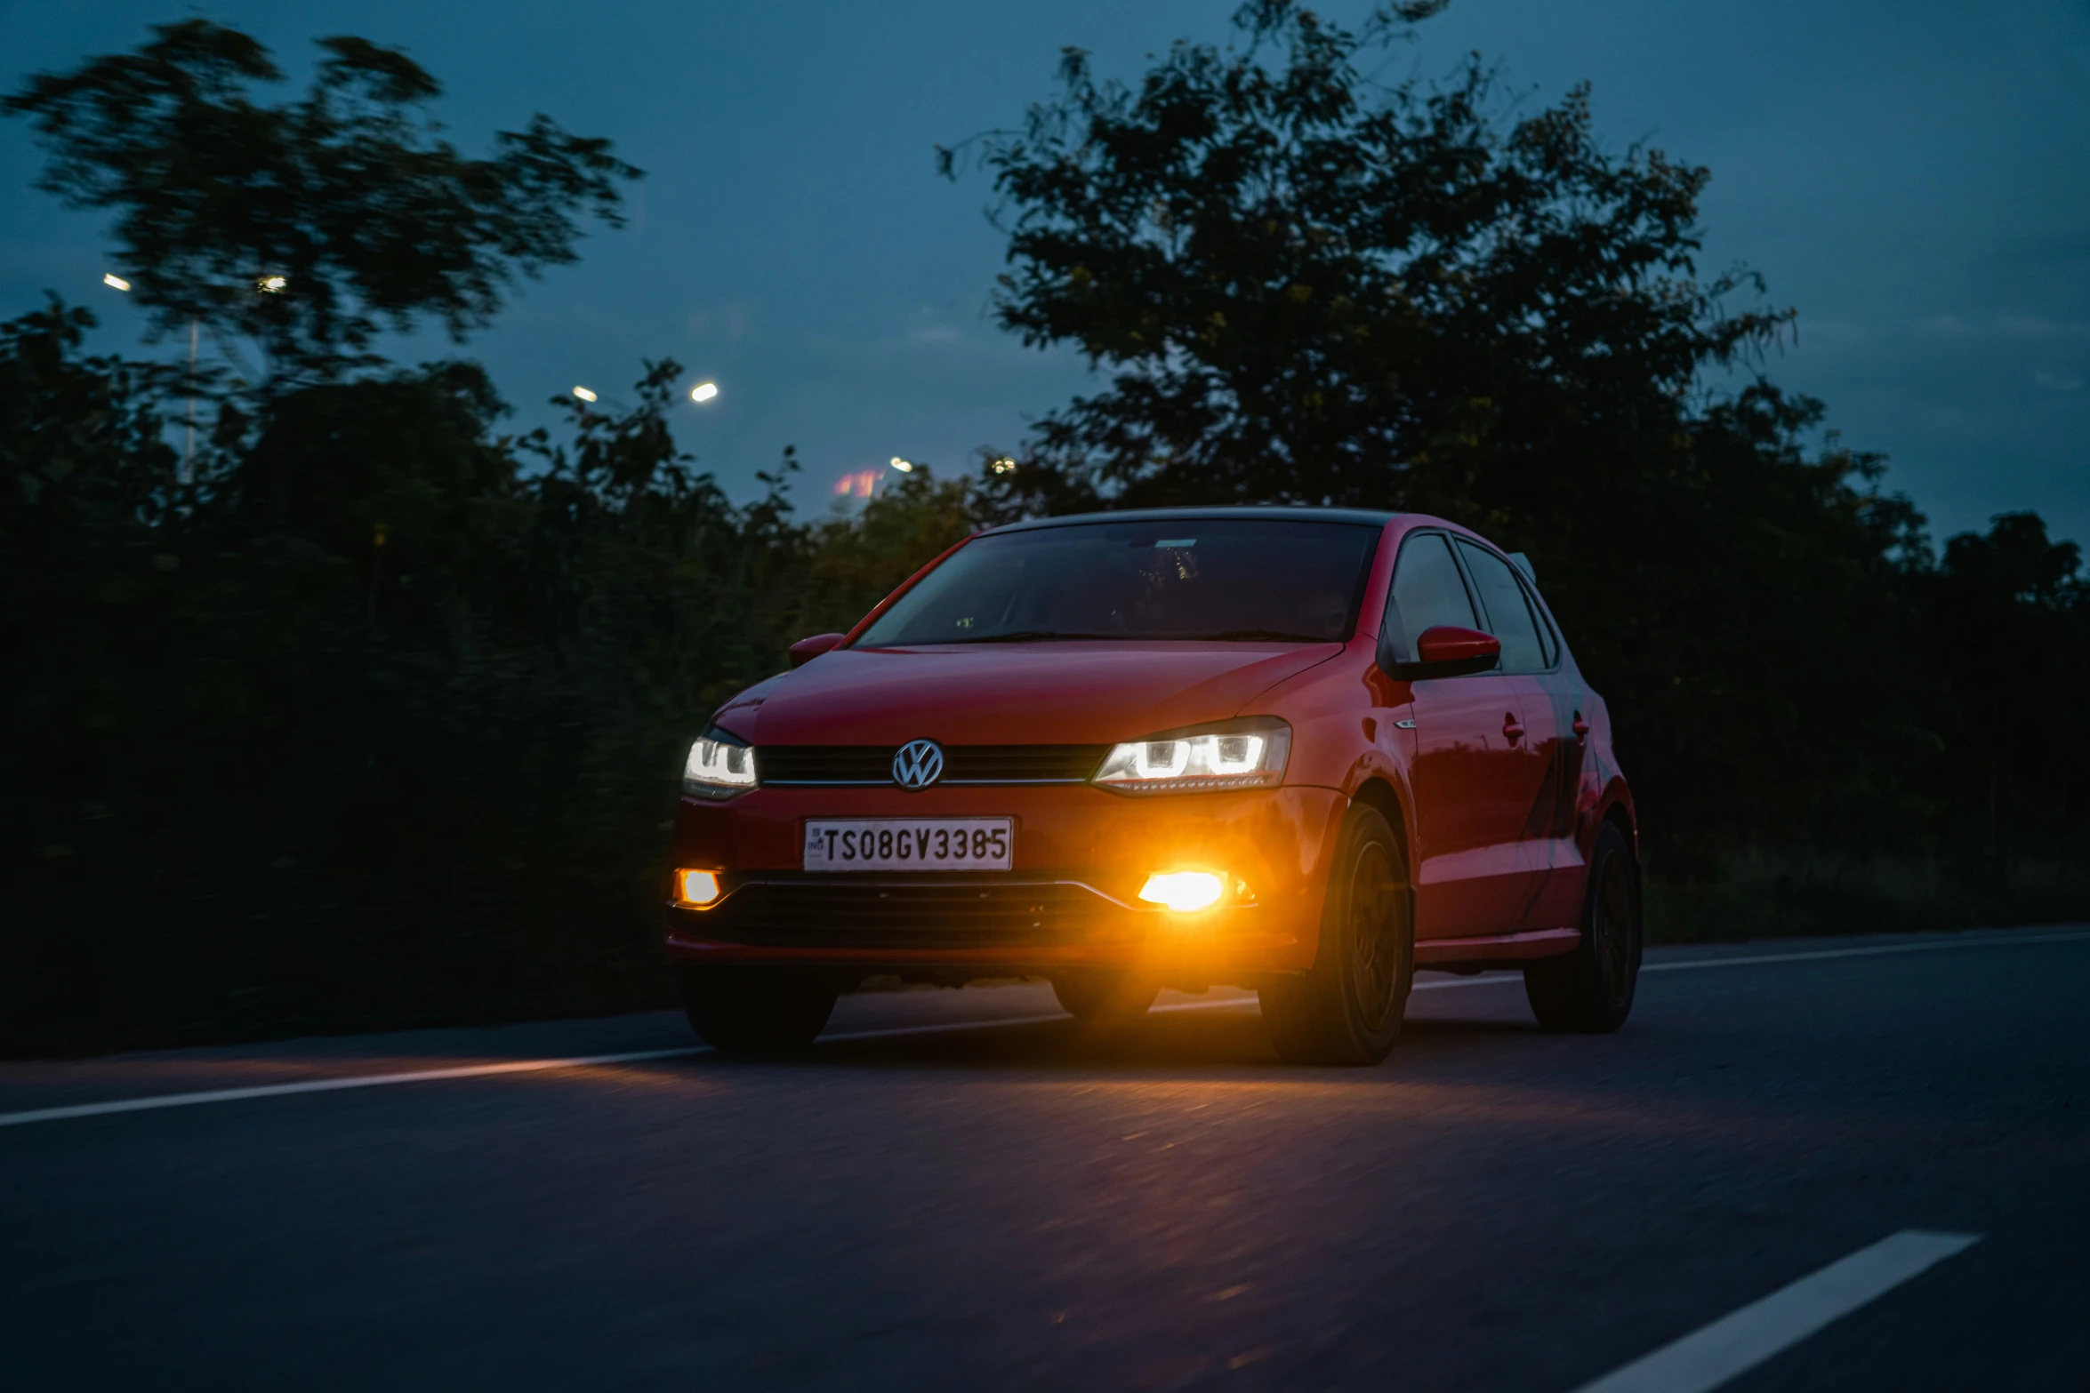
POLYGON ((1710 1393, 1979 1241, 1904 1228, 1576 1393, 1710 1393))

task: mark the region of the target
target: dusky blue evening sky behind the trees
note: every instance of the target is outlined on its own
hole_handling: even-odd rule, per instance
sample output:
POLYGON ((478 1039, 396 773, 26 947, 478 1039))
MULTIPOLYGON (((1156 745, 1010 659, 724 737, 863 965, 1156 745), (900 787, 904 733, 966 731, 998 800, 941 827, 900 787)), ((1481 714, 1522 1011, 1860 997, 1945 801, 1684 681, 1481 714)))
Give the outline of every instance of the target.
MULTIPOLYGON (((1356 19, 1363 4, 1321 6, 1356 19)), ((719 397, 677 439, 736 497, 784 445, 800 505, 892 455, 938 472, 1085 391, 1083 361, 1024 349, 986 317, 1003 238, 978 171, 936 178, 934 146, 1007 127, 1051 96, 1060 50, 1137 77, 1177 38, 1225 40, 1233 0, 0 0, 0 81, 132 48, 201 13, 301 71, 355 33, 447 88, 466 148, 543 111, 648 171, 623 232, 518 292, 458 349, 489 365, 516 426, 585 384, 629 399, 673 357, 719 397)), ((1496 61, 1530 104, 1588 81, 1601 136, 1712 169, 1714 271, 1745 261, 1797 336, 1768 374, 1829 405, 1843 443, 1883 451, 1889 487, 1944 537, 2038 510, 2090 541, 2090 0, 1455 0, 1394 75, 1496 61)), ((104 219, 29 182, 40 157, 0 123, 0 315, 46 288, 136 351, 104 219)), ((159 351, 171 351, 163 345, 159 351)))

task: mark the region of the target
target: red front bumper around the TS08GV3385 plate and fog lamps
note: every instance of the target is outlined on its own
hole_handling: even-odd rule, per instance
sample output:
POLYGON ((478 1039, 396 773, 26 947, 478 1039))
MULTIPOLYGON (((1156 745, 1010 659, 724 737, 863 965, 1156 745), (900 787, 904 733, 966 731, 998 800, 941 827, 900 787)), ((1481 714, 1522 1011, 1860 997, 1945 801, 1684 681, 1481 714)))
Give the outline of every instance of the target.
POLYGON ((1087 785, 769 787, 686 800, 675 865, 725 896, 669 911, 677 963, 1014 975, 1131 967, 1183 982, 1304 971, 1319 942, 1344 798, 1323 787, 1124 798, 1087 785), (805 873, 809 817, 1014 817, 999 873, 805 873), (1223 871, 1241 894, 1177 915, 1143 904, 1154 871, 1223 871))

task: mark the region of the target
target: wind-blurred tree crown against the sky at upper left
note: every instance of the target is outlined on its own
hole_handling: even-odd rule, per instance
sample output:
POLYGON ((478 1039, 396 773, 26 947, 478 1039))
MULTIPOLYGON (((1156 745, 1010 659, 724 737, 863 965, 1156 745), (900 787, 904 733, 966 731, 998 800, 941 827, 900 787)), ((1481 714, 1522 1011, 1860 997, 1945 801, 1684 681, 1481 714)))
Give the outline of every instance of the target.
POLYGON ((40 73, 0 100, 50 152, 38 186, 113 209, 119 267, 157 328, 201 322, 263 345, 278 374, 370 363, 385 328, 451 336, 518 276, 575 259, 579 217, 621 226, 610 142, 531 117, 472 159, 441 138, 441 84, 397 48, 320 40, 303 100, 253 38, 207 19, 155 25, 127 54, 40 73))

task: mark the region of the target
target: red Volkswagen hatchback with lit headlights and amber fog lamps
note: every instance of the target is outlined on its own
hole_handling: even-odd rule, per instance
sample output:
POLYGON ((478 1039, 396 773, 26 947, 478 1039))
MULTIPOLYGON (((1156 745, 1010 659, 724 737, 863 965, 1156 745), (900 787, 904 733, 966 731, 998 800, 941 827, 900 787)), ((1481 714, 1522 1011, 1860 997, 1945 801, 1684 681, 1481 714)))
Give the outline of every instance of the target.
POLYGON ((1417 967, 1618 1030, 1632 796, 1528 566, 1417 514, 1177 507, 951 547, 719 708, 669 957, 725 1048, 865 975, 1049 977, 1076 1017, 1254 988, 1285 1059, 1377 1063, 1417 967))

